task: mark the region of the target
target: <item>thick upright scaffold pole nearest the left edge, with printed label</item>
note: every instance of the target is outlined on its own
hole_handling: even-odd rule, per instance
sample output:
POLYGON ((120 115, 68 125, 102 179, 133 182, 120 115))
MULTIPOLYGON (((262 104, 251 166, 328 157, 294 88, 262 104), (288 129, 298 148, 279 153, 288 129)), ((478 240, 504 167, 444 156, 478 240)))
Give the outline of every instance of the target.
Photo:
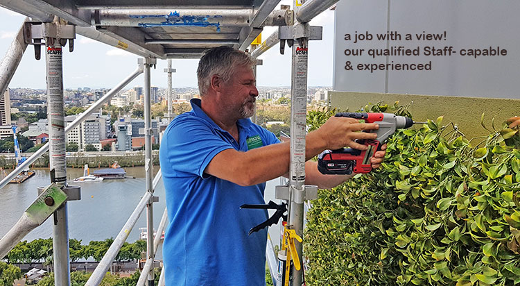
MULTIPOLYGON (((63 69, 60 41, 51 37, 47 38, 45 54, 47 104, 49 106, 49 160, 55 183, 63 187, 67 181, 67 162, 65 162, 63 69)), ((57 286, 68 286, 71 283, 67 216, 67 203, 65 202, 61 208, 54 212, 54 283, 57 286)))

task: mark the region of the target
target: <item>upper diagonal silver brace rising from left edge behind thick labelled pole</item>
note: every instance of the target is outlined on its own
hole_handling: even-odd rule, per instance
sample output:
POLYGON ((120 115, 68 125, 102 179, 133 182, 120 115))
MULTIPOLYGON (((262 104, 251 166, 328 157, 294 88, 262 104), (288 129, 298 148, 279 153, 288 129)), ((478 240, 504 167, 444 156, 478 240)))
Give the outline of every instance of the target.
MULTIPOLYGON (((98 110, 98 108, 100 108, 103 105, 103 103, 105 103, 105 101, 109 100, 112 96, 114 96, 114 94, 117 94, 118 92, 120 92, 123 89, 123 87, 128 85, 128 83, 133 81, 134 78, 136 78, 137 76, 139 76, 139 74, 142 74, 143 72, 144 72, 143 67, 141 65, 139 65, 139 67, 137 67, 137 69, 135 69, 135 71, 132 72, 132 74, 130 74, 130 76, 125 78, 123 81, 121 81, 121 83, 116 85, 112 90, 110 90, 110 92, 107 92, 107 94, 105 94, 103 97, 101 97, 101 99, 96 101, 96 103, 92 104, 92 106, 90 106, 87 110, 85 110, 85 112, 81 113, 80 116, 78 116, 74 121, 72 121, 71 124, 67 125, 67 127, 65 127, 65 133, 69 133, 69 131, 71 131, 73 128, 76 128, 76 126, 80 125, 81 122, 83 122, 85 120, 85 118, 87 118, 89 115, 92 114, 92 112, 94 112, 95 110, 98 110)), ((10 180, 15 178, 25 168, 28 168, 31 164, 33 164, 33 162, 35 162, 38 158, 40 158, 48 150, 49 150, 49 142, 46 142, 44 144, 44 146, 42 146, 40 149, 38 149, 38 151, 36 151, 31 157, 27 158, 27 160, 25 160, 25 162, 21 163, 18 167, 16 167, 14 170, 12 170, 6 176, 6 178, 3 178, 0 181, 0 189, 2 187, 5 187, 10 182, 10 180)))

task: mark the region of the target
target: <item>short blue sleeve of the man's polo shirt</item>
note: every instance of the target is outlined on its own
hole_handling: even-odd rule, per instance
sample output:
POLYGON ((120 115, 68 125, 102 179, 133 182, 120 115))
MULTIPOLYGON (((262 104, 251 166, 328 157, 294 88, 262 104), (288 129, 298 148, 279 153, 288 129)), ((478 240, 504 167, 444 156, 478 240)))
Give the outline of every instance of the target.
POLYGON ((197 175, 207 178, 204 170, 214 156, 233 146, 222 139, 204 121, 196 117, 184 117, 173 122, 164 134, 168 162, 177 176, 197 175))

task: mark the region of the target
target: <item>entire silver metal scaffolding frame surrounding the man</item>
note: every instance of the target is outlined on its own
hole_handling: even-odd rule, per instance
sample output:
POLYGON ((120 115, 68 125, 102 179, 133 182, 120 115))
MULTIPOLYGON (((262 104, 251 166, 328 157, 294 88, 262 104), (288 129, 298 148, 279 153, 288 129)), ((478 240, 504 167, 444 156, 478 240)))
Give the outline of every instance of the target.
MULTIPOLYGON (((278 43, 281 53, 284 53, 286 44, 291 48, 293 63, 290 176, 288 186, 277 187, 277 199, 288 201, 288 228, 302 237, 304 201, 314 199, 317 192, 317 187, 305 185, 308 43, 309 40, 321 40, 322 35, 321 27, 309 26, 308 23, 337 1, 295 0, 294 10, 290 10, 286 6, 276 10, 279 0, 0 0, 0 6, 31 17, 24 21, 17 37, 11 44, 10 52, 0 62, 0 94, 6 90, 26 47, 32 45, 35 48, 35 57, 39 59, 40 49, 44 46, 47 63, 49 121, 51 122, 49 135, 50 141, 53 142, 51 145, 49 142, 46 143, 0 181, 0 187, 5 186, 20 170, 31 165, 46 151, 50 151, 53 184, 45 190, 40 190, 42 194, 35 201, 35 204, 46 205, 46 207, 36 211, 37 219, 33 221, 22 217, 8 235, 0 239, 0 255, 3 257, 28 232, 54 214, 55 221, 57 221, 54 226, 53 239, 55 285, 70 285, 67 200, 80 199, 80 190, 79 187, 70 187, 65 184, 64 135, 98 110, 139 74, 144 74, 145 92, 145 193, 86 285, 95 286, 101 283, 112 260, 119 253, 145 207, 147 209, 147 232, 154 233, 153 203, 158 201, 158 198, 153 195, 153 192, 162 175, 159 169, 155 178, 152 176, 153 133, 150 112, 150 67, 155 66, 157 59, 168 59, 168 69, 165 69, 164 72, 168 73, 168 120, 171 120, 173 117, 171 74, 175 72, 175 69, 171 68, 171 59, 200 58, 206 49, 221 45, 242 51, 248 49, 254 59, 278 43), (172 9, 172 7, 174 8, 172 9), (251 45, 265 26, 276 26, 278 29, 262 44, 251 45), (76 33, 135 53, 142 58, 139 59, 138 67, 134 72, 65 127, 63 124, 61 49, 68 42, 69 51, 73 51, 73 39, 76 33)), ((25 216, 35 215, 35 208, 31 207, 28 208, 25 216)), ((164 210, 156 237, 148 235, 147 259, 137 285, 146 283, 151 286, 154 283, 155 253, 157 253, 166 221, 167 215, 164 210)), ((302 261, 302 244, 296 242, 295 248, 297 259, 302 261)), ((278 262, 270 240, 266 255, 273 282, 276 283, 275 271, 278 267, 275 264, 278 262)), ((302 269, 293 269, 293 276, 293 285, 302 285, 302 269)), ((164 285, 163 273, 159 278, 159 285, 164 285)))

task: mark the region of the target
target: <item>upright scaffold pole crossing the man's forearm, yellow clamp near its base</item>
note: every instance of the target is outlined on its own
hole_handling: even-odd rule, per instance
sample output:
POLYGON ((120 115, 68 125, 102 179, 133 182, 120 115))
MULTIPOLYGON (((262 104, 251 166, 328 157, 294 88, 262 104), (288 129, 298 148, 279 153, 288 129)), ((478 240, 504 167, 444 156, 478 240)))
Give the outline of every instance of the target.
MULTIPOLYGON (((296 1, 294 4, 296 6, 296 1)), ((281 53, 286 42, 289 47, 292 47, 289 185, 288 187, 277 186, 276 190, 277 199, 288 201, 287 229, 284 230, 282 247, 285 252, 281 255, 279 253, 279 260, 284 261, 286 257, 286 263, 289 265, 289 253, 291 253, 291 260, 294 260, 292 271, 287 273, 284 270, 278 277, 286 279, 283 285, 288 285, 287 283, 291 285, 288 277, 292 276, 292 285, 301 286, 304 269, 302 259, 304 201, 316 199, 318 196, 317 186, 305 185, 308 43, 309 40, 321 40, 322 28, 309 26, 307 23, 295 23, 293 26, 281 26, 278 36, 281 53), (284 250, 288 244, 291 251, 284 250)))

